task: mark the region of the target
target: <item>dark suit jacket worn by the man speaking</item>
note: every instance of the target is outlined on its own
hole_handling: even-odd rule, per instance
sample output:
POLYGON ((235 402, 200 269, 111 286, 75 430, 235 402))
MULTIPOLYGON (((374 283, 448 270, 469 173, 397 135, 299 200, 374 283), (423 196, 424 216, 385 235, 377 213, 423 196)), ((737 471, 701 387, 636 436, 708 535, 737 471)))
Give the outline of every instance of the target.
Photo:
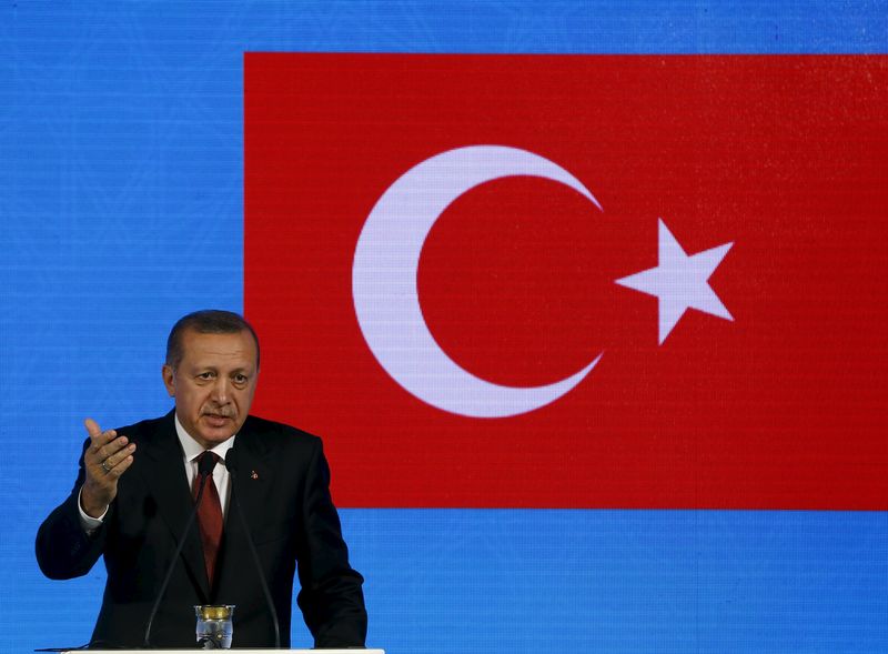
MULTIPOLYGON (((37 559, 50 578, 87 574, 99 556, 108 570, 93 641, 139 646, 151 606, 193 507, 173 413, 118 430, 137 443, 132 466, 118 484, 104 524, 91 536, 80 526, 74 489, 37 534, 37 559)), ((87 442, 89 444, 89 441, 87 442)), ((84 445, 85 447, 85 445, 84 445)), ((293 576, 297 602, 317 647, 361 646, 366 634, 363 578, 349 565, 330 471, 321 440, 250 416, 238 433, 238 470, 225 514, 215 587, 210 588, 196 523, 152 627, 151 644, 193 647, 194 604, 235 604, 234 647, 273 646, 274 630, 246 535, 234 505, 238 494, 290 644, 293 576)))

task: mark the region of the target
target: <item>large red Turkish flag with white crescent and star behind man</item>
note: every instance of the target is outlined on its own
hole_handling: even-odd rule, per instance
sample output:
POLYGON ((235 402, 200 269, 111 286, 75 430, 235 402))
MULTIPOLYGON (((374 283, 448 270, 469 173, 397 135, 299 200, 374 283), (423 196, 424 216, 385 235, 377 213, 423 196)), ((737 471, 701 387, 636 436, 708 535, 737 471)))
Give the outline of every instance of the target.
POLYGON ((244 89, 255 412, 340 505, 888 509, 888 58, 248 53, 244 89), (421 256, 374 296, 383 213, 369 251, 421 256), (422 320, 369 335, 396 284, 422 320))

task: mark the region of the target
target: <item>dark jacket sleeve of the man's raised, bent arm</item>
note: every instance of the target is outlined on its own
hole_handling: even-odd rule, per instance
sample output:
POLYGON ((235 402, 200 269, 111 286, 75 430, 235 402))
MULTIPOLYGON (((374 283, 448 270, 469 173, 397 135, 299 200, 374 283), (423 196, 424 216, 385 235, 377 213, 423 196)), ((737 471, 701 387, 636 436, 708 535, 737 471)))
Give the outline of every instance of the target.
MULTIPOLYGON (((89 439, 83 445, 84 452, 88 445, 89 439)), ((49 578, 65 580, 87 574, 104 550, 105 526, 88 534, 80 525, 78 495, 84 479, 81 454, 80 470, 71 494, 49 514, 37 531, 37 563, 49 578)), ((105 520, 111 511, 109 509, 105 520)))

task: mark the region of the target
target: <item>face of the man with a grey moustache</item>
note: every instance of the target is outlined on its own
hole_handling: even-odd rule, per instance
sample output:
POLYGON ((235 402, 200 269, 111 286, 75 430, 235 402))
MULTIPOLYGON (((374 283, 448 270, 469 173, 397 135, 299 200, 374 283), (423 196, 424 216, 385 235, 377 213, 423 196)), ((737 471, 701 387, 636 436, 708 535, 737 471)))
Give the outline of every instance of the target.
POLYGON ((175 414, 204 447, 238 433, 256 390, 256 344, 250 332, 182 334, 182 361, 163 366, 163 383, 175 398, 175 414))

